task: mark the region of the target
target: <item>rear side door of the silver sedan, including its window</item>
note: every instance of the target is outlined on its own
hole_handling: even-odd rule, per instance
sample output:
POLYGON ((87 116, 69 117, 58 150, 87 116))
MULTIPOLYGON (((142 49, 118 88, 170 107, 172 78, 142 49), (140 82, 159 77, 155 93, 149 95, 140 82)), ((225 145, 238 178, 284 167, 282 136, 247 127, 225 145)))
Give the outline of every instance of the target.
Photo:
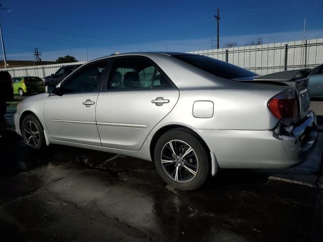
POLYGON ((106 91, 96 105, 96 124, 104 147, 138 150, 153 127, 175 106, 179 91, 149 59, 118 57, 106 91))

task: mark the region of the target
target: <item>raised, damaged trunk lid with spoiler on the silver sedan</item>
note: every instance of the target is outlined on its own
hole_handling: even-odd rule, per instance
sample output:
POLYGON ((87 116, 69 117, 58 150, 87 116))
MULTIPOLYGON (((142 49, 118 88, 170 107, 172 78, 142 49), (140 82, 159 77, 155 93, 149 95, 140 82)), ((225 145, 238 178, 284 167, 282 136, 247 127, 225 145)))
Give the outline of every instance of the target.
POLYGON ((289 86, 291 89, 295 90, 299 109, 298 117, 299 119, 302 119, 307 114, 310 107, 308 76, 312 71, 312 69, 292 70, 268 74, 264 76, 238 78, 234 80, 239 82, 289 86))

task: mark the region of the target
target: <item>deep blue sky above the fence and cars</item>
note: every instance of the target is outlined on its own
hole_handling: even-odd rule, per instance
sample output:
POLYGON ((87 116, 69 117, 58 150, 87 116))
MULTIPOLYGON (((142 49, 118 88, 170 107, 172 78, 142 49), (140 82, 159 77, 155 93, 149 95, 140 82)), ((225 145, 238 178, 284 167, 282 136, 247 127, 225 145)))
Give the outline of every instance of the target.
POLYGON ((113 52, 191 51, 211 48, 216 38, 213 15, 220 8, 220 47, 244 45, 262 36, 265 43, 323 38, 323 1, 0 1, 8 59, 55 61, 74 55, 79 61, 113 52))

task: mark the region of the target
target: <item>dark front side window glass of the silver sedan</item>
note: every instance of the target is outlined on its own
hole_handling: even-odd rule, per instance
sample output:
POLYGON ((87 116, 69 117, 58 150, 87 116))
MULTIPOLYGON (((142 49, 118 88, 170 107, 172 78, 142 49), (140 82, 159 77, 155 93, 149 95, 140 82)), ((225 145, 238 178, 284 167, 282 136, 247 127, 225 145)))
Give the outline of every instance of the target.
POLYGON ((96 92, 107 61, 85 66, 61 85, 64 93, 96 92))

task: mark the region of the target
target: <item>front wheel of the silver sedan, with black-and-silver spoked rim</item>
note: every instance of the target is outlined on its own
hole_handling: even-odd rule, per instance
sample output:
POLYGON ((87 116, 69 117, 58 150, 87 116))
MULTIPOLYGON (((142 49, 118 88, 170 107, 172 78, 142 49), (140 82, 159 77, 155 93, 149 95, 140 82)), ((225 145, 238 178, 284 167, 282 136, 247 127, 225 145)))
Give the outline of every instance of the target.
POLYGON ((45 147, 46 141, 43 128, 34 114, 28 114, 24 117, 21 125, 21 133, 28 147, 37 150, 45 147))

